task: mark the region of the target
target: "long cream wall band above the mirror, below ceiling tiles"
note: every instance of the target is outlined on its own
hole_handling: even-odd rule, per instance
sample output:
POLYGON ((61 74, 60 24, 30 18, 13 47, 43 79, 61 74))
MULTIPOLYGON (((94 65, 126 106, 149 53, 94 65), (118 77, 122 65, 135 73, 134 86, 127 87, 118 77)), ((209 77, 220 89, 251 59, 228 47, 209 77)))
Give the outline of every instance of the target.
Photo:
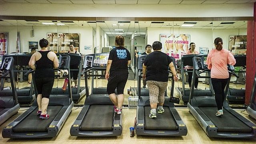
POLYGON ((5 16, 234 17, 253 16, 246 4, 35 4, 0 3, 5 16))

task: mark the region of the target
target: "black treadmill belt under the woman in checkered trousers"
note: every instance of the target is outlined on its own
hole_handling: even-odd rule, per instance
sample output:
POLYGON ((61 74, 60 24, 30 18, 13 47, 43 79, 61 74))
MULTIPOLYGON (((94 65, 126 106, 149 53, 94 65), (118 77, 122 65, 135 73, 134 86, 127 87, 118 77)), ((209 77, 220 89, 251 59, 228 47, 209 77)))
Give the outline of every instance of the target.
POLYGON ((170 108, 164 106, 164 113, 158 114, 156 118, 150 118, 150 106, 144 106, 145 130, 177 130, 177 124, 170 112, 170 108))

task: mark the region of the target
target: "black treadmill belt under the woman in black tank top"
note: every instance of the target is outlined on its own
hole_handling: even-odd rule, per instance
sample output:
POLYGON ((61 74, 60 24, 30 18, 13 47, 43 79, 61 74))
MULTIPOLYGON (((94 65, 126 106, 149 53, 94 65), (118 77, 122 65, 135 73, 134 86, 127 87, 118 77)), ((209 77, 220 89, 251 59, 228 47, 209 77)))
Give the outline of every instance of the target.
POLYGON ((42 120, 36 115, 38 108, 33 110, 22 122, 13 128, 14 132, 46 132, 48 126, 54 120, 63 106, 48 106, 48 119, 42 120))

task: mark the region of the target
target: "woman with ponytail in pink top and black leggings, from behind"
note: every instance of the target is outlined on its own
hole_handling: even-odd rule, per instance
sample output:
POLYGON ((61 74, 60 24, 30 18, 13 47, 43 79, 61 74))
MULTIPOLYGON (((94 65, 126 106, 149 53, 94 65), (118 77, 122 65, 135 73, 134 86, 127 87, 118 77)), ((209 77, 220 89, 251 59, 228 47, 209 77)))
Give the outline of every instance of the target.
POLYGON ((225 98, 224 88, 228 83, 229 77, 227 64, 236 64, 236 59, 233 54, 228 50, 222 49, 222 44, 222 38, 215 38, 215 49, 209 52, 206 59, 208 69, 211 70, 211 81, 218 107, 218 112, 215 114, 216 116, 223 115, 222 106, 225 98))

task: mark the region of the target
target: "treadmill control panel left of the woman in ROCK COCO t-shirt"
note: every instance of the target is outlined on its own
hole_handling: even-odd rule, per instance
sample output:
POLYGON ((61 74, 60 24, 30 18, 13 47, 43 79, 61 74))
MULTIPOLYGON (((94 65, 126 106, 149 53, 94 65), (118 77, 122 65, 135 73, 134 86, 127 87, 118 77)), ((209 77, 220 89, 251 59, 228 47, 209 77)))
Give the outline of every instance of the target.
POLYGON ((106 68, 109 53, 89 54, 85 56, 83 68, 106 68))

